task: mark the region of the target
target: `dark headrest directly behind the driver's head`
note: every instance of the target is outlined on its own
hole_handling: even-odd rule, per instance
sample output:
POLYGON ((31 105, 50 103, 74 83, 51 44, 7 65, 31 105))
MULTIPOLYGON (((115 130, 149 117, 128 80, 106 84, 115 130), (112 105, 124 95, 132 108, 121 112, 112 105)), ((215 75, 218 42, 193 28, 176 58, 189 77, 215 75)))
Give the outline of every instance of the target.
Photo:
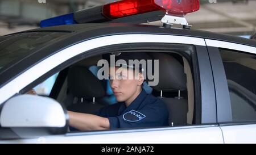
MULTIPOLYGON (((153 89, 160 91, 186 90, 186 75, 184 67, 176 58, 167 53, 150 53, 154 60, 159 60, 159 83, 152 86, 153 89)), ((156 72, 155 72, 156 73, 156 72)))

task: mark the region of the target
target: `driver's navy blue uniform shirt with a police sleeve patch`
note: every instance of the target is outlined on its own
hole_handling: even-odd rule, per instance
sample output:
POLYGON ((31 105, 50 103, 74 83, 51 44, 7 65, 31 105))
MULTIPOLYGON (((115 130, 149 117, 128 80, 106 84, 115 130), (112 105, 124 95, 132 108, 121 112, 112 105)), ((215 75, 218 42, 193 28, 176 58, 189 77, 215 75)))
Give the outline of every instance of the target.
POLYGON ((168 125, 169 113, 162 100, 142 90, 128 107, 118 102, 101 108, 97 115, 108 118, 110 129, 115 129, 168 125))

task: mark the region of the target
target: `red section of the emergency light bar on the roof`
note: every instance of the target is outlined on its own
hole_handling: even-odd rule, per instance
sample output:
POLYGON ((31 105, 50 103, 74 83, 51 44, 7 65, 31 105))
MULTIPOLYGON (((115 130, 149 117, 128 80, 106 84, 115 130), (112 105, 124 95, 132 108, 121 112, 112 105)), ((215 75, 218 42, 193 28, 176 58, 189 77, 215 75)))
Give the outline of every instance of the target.
POLYGON ((110 19, 163 10, 166 14, 183 16, 199 10, 199 0, 123 0, 102 7, 102 14, 110 19))

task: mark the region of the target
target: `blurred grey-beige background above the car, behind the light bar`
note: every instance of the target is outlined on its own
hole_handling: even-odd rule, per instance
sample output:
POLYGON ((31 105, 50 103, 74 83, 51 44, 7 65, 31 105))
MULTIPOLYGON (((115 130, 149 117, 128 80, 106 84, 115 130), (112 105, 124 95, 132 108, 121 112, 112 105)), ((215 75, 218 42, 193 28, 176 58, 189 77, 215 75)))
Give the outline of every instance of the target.
MULTIPOLYGON (((40 20, 111 0, 0 0, 0 36, 39 27, 40 20)), ((186 15, 193 29, 249 37, 256 30, 256 0, 200 0, 186 15)), ((156 23, 160 24, 160 23, 156 23)))

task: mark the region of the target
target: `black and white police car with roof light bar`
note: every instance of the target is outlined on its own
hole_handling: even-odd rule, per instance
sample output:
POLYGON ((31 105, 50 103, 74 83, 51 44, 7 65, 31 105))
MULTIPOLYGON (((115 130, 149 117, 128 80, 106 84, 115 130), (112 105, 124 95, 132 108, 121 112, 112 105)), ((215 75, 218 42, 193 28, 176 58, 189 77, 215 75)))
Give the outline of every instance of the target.
POLYGON ((199 0, 124 0, 0 37, 0 143, 256 143, 256 41, 191 30, 184 15, 196 10, 199 0), (159 83, 145 90, 166 103, 170 125, 69 130, 67 110, 114 103, 94 73, 112 52, 159 60, 159 83), (48 95, 26 94, 52 76, 48 95))

